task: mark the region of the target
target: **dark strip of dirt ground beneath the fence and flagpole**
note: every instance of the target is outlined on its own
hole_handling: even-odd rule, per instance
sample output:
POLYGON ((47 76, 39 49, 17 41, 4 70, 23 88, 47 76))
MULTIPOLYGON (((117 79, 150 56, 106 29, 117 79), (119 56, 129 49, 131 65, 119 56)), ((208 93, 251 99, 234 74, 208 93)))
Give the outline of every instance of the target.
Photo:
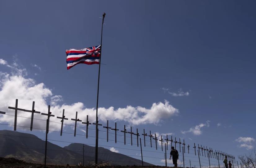
MULTIPOLYGON (((3 158, 0 157, 0 168, 43 168, 44 165, 38 163, 27 163, 22 160, 17 160, 15 158, 3 158)), ((100 164, 99 166, 61 166, 61 165, 46 165, 47 168, 141 168, 142 166, 109 166, 108 163, 100 164)), ((154 168, 154 167, 164 167, 164 166, 143 166, 143 168, 154 168)))

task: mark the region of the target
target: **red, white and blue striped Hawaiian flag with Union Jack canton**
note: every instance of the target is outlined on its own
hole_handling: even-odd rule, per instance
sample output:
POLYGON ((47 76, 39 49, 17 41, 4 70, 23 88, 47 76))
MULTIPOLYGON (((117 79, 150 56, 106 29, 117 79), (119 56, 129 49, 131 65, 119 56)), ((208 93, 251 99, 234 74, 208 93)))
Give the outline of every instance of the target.
POLYGON ((99 64, 101 46, 66 50, 68 69, 77 64, 99 64))

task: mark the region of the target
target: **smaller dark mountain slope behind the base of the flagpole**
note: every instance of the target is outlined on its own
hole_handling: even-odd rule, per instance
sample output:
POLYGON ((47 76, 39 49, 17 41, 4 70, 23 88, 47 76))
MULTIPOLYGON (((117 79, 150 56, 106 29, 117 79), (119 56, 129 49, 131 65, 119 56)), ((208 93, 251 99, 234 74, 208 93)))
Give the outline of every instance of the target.
MULTIPOLYGON (((79 151, 82 149, 82 144, 73 143, 64 147, 70 151, 79 151)), ((85 157, 94 157, 95 158, 95 147, 84 145, 84 155, 85 157)), ((81 153, 81 152, 79 152, 81 153)), ((137 165, 141 166, 141 160, 135 159, 133 157, 126 156, 124 154, 111 152, 108 149, 99 147, 98 148, 98 158, 104 162, 110 162, 112 165, 137 165)), ((143 162, 144 166, 153 166, 147 162, 143 162)))

